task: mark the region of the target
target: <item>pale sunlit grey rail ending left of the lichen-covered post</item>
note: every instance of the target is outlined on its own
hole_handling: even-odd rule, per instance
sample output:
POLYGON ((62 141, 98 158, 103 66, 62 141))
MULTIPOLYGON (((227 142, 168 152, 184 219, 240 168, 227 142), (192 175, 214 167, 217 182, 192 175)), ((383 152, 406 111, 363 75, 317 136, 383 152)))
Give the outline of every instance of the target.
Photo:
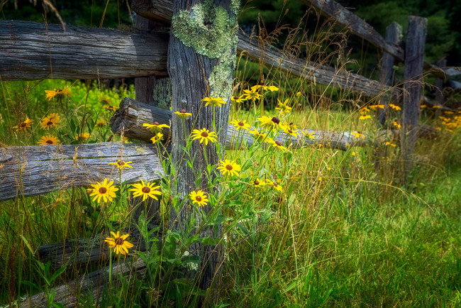
POLYGON ((118 159, 133 162, 133 168, 121 174, 121 180, 127 183, 164 176, 153 145, 94 143, 0 148, 0 201, 89 187, 104 178, 118 183, 118 168, 108 165, 118 159))

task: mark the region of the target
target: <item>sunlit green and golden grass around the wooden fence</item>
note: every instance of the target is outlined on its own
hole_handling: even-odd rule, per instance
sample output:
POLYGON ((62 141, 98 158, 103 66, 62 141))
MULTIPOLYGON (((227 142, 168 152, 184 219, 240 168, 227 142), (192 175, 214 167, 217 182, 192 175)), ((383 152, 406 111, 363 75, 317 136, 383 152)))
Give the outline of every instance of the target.
MULTIPOLYGON (((6 146, 36 145, 48 133, 55 133, 64 144, 82 143, 75 140, 79 133, 90 134, 87 143, 106 140, 111 136, 109 128, 96 126, 96 121, 108 121, 113 113, 104 104, 118 106, 122 97, 134 96, 133 87, 104 89, 96 83, 59 80, 2 82, 1 87, 0 107, 5 112, 0 142, 6 146), (68 87, 71 98, 45 99, 45 90, 58 87, 68 87), (101 99, 106 101, 101 103, 101 99), (59 125, 48 131, 40 128, 40 121, 53 112, 61 116, 59 125), (13 128, 25 119, 34 121, 28 130, 13 128)), ((280 92, 275 98, 289 98, 280 92)), ((352 130, 368 136, 377 131, 374 113, 369 111, 371 118, 361 121, 360 108, 353 104, 316 107, 304 97, 291 97, 290 102, 294 108, 289 114, 280 114, 269 105, 264 111, 261 105, 250 106, 248 111, 234 104, 232 119, 247 119, 253 125, 263 114, 278 114, 284 123, 293 121, 300 128, 352 130)), ((389 121, 397 118, 395 112, 389 121)), ((422 118, 425 123, 440 125, 433 111, 424 111, 422 118)), ((459 307, 460 155, 459 128, 454 133, 443 129, 430 140, 420 139, 413 170, 404 184, 399 147, 384 143, 347 151, 321 146, 285 151, 259 145, 228 151, 226 159, 238 163, 242 171, 238 177, 218 175, 222 190, 209 194, 210 202, 226 204, 222 209, 227 222, 221 239, 226 255, 218 305, 459 307), (273 185, 255 188, 255 179, 278 182, 283 189, 278 191, 273 185)), ((216 172, 214 167, 209 175, 216 172)), ((168 197, 173 204, 177 199, 169 190, 173 180, 174 174, 159 183, 164 227, 170 213, 168 197)), ((127 199, 124 189, 123 194, 117 192, 114 202, 99 204, 85 189, 76 188, 1 202, 0 304, 40 290, 45 290, 50 305, 55 304, 50 287, 108 265, 108 260, 101 260, 67 268, 51 279, 58 269, 47 272, 46 265, 38 262, 36 249, 47 243, 110 236, 109 231, 123 230, 130 215, 127 199)), ((147 224, 141 222, 138 228, 144 226, 147 224)), ((148 258, 148 274, 131 278, 130 284, 112 285, 101 306, 196 304, 196 295, 203 292, 184 282, 181 275, 182 269, 195 262, 184 258, 191 245, 185 236, 166 236, 164 248, 154 241, 150 257, 130 253, 131 257, 148 258), (174 243, 178 238, 184 245, 174 243)), ((120 259, 113 258, 113 262, 120 259)), ((79 301, 85 307, 95 303, 87 295, 81 295, 79 301)))

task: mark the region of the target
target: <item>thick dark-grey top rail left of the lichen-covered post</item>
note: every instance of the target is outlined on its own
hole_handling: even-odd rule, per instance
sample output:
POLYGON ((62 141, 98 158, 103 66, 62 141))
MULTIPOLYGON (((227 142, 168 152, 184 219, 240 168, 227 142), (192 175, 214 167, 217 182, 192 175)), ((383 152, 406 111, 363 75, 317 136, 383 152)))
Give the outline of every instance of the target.
POLYGON ((168 33, 0 21, 2 80, 167 76, 168 33))

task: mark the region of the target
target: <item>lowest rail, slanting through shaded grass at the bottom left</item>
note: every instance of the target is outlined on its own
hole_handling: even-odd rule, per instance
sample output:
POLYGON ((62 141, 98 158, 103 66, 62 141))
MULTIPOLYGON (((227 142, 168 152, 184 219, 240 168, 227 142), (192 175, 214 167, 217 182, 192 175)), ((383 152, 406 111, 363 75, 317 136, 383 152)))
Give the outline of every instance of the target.
MULTIPOLYGON (((120 264, 113 265, 112 277, 113 285, 120 286, 121 282, 116 280, 117 275, 128 275, 136 277, 143 277, 145 275, 145 263, 140 258, 138 260, 126 260, 120 264)), ((109 282, 109 266, 101 270, 95 270, 87 275, 66 282, 62 285, 54 287, 52 290, 55 292, 53 302, 63 304, 65 307, 79 307, 79 298, 91 296, 96 303, 101 302, 104 294, 104 289, 109 282)), ((118 290, 118 287, 114 288, 118 290)), ((47 296, 45 292, 26 297, 26 299, 19 304, 21 308, 28 307, 48 307, 47 296)))

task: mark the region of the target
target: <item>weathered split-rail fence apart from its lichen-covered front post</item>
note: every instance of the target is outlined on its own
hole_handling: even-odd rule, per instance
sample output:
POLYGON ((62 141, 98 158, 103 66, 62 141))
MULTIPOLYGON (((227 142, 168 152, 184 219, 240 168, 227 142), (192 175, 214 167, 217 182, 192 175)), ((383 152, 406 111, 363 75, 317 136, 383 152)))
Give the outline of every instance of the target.
MULTIPOLYGON (((334 67, 287 55, 277 48, 260 42, 257 38, 248 38, 244 33, 238 33, 238 53, 260 62, 261 65, 289 72, 291 75, 312 82, 315 80, 329 87, 347 89, 364 97, 381 99, 384 104, 388 104, 391 97, 400 97, 404 101, 404 129, 401 136, 406 136, 401 138, 402 148, 404 153, 410 156, 418 132, 416 127, 418 127, 421 100, 421 83, 418 80, 423 76, 423 69, 440 80, 461 75, 460 70, 438 67, 423 60, 426 21, 415 16, 409 18, 409 31, 406 49, 404 49, 399 42, 399 26, 396 24, 388 27, 384 38, 372 26, 335 1, 301 1, 311 5, 323 16, 347 27, 353 35, 358 35, 380 48, 384 53, 382 79, 372 80, 352 72, 336 70, 334 67), (405 89, 394 87, 389 75, 389 70, 396 62, 405 63, 405 81, 416 81, 406 82, 405 89), (387 95, 383 95, 384 93, 387 95), (407 138, 408 136, 411 138, 407 138)), ((135 0, 132 9, 138 13, 138 16, 148 20, 167 25, 171 23, 173 14, 171 0, 135 0)), ((67 31, 64 32, 58 25, 0 21, 0 77, 3 81, 51 77, 55 79, 136 77, 136 84, 143 84, 143 89, 140 87, 136 89, 136 95, 138 99, 143 97, 146 101, 123 99, 120 109, 111 119, 111 126, 114 133, 123 132, 124 136, 148 141, 152 133, 143 128, 142 123, 154 121, 170 123, 172 118, 171 111, 152 106, 152 101, 147 101, 152 98, 152 89, 155 84, 158 84, 156 79, 168 76, 169 38, 169 33, 162 31, 121 31, 67 26, 67 31)), ((450 87, 461 88, 459 83, 453 81, 450 81, 450 87)), ((440 101, 433 102, 430 99, 425 101, 427 104, 449 110, 445 106, 440 106, 440 101)), ((384 114, 379 116, 379 121, 384 123, 384 114)), ((277 138, 279 141, 289 143, 292 148, 321 144, 329 148, 347 150, 350 146, 370 144, 369 139, 354 138, 351 132, 313 130, 305 130, 305 132, 313 132, 313 138, 306 138, 301 133, 298 138, 290 138, 284 133, 280 133, 277 138)), ((165 131, 165 133, 169 132, 165 131)), ((383 130, 381 136, 389 138, 396 134, 396 131, 383 130)), ((238 138, 237 136, 234 128, 228 126, 227 149, 238 149, 241 145, 252 144, 252 138, 248 133, 243 133, 238 138)), ((111 178, 117 182, 118 172, 114 173, 113 168, 107 165, 117 158, 133 161, 133 169, 122 174, 121 180, 127 183, 140 179, 157 180, 165 176, 160 164, 160 153, 157 153, 155 147, 147 144, 96 143, 0 148, 0 201, 45 194, 70 187, 87 187, 104 178, 111 178)), ((67 250, 69 247, 71 247, 70 251, 77 249, 73 244, 68 245, 67 250)), ((99 252, 91 253, 91 260, 97 260, 99 255, 104 254, 106 249, 104 244, 98 247, 99 252)), ((139 246, 138 249, 143 248, 139 246)), ((65 253, 66 246, 62 243, 43 247, 41 251, 48 252, 45 258, 54 260, 53 264, 56 267, 59 267, 63 260, 70 258, 69 254, 65 253)), ((78 260, 82 263, 89 262, 85 258, 78 260)), ((126 267, 123 266, 125 265, 121 265, 121 272, 126 271, 126 267)), ((143 265, 138 264, 135 268, 142 269, 143 265)), ((90 276, 96 277, 103 283, 95 284, 94 281, 91 282, 91 277, 75 280, 57 287, 58 293, 55 298, 69 303, 69 300, 72 301, 69 295, 73 296, 75 290, 82 285, 94 292, 96 285, 100 287, 106 281, 106 276, 101 273, 104 273, 104 270, 92 273, 90 276), (60 290, 64 293, 59 293, 60 290)), ((35 306, 43 303, 44 298, 43 294, 34 295, 29 297, 27 302, 23 302, 23 305, 35 306)))

